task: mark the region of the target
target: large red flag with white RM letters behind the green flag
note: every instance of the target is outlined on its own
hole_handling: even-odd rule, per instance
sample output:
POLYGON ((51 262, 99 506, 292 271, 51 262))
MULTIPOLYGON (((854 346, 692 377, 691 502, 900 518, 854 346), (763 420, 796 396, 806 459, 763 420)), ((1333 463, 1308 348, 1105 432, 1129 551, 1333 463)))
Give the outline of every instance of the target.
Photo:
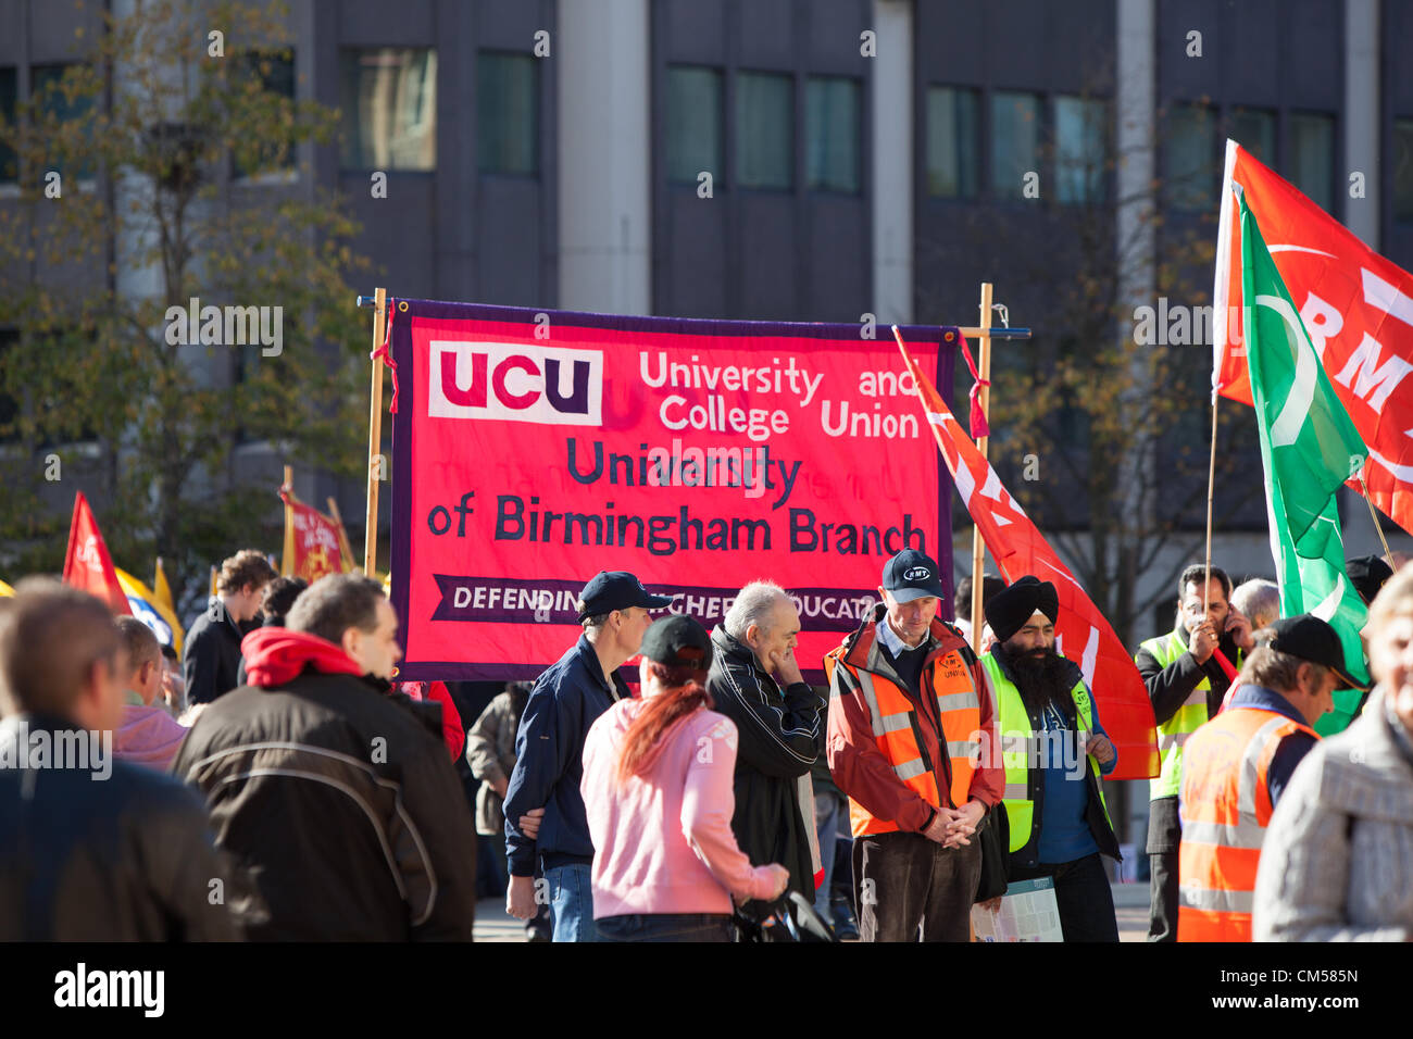
MULTIPOLYGON (((1389 263, 1294 187, 1226 141, 1217 283, 1214 389, 1251 404, 1241 321, 1239 184, 1340 403, 1369 445, 1369 498, 1413 532, 1413 274, 1389 263)), ((1358 489, 1358 476, 1349 481, 1358 489)))

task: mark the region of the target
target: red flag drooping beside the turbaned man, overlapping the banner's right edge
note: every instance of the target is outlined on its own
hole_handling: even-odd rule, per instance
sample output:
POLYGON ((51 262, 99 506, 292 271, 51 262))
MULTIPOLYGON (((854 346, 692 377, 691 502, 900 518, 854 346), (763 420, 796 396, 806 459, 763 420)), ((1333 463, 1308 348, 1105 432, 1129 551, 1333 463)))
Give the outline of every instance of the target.
POLYGON ((1108 779, 1156 776, 1159 756, 1153 704, 1133 657, 1020 503, 1000 485, 996 471, 962 433, 955 416, 907 352, 903 336, 896 329, 893 335, 903 351, 903 362, 917 382, 923 411, 952 474, 957 492, 981 530, 1002 577, 1007 584, 1026 574, 1054 582, 1060 598, 1057 649, 1061 653, 1065 646, 1072 650, 1068 656, 1084 671, 1084 680, 1099 705, 1099 720, 1119 752, 1119 763, 1108 779))

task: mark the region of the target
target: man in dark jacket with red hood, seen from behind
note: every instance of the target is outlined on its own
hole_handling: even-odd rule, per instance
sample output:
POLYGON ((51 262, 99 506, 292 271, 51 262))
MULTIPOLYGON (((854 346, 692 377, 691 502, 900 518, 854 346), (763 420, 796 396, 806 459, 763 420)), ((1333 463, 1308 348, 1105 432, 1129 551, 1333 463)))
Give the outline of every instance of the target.
POLYGON ((206 794, 249 937, 471 940, 476 837, 441 707, 387 695, 379 582, 331 574, 246 640, 250 687, 196 720, 172 772, 206 794))

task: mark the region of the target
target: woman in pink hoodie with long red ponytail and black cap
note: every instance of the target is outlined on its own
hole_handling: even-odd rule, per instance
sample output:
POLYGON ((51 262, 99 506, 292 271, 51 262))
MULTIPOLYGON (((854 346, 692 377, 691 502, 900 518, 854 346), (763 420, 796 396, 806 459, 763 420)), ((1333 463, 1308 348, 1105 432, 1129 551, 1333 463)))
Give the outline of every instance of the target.
POLYGON ((711 639, 690 616, 647 629, 642 698, 589 728, 579 786, 601 941, 731 941, 731 899, 780 896, 788 871, 736 845, 736 725, 708 710, 711 639))

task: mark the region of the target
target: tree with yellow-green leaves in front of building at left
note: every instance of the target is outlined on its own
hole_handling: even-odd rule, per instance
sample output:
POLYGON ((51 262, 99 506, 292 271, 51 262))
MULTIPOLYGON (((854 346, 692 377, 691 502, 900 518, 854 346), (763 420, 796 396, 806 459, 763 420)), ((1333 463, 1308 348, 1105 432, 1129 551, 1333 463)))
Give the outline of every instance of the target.
POLYGON ((278 550, 280 464, 362 474, 349 281, 366 262, 311 181, 339 116, 295 99, 285 18, 181 0, 81 14, 82 58, 32 76, 0 124, 17 192, 0 199, 6 571, 59 568, 79 479, 117 560, 160 554, 195 588, 237 547, 278 550), (259 479, 239 464, 252 442, 277 455, 259 479))

